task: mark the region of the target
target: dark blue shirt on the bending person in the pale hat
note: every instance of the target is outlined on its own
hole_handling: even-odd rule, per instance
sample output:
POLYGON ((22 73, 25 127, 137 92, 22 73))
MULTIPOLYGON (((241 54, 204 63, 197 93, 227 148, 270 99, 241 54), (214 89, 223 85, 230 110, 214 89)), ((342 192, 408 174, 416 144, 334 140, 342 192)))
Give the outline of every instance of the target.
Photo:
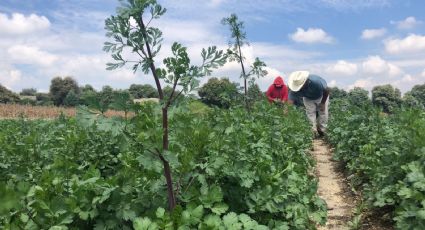
POLYGON ((294 92, 289 90, 288 98, 292 101, 295 101, 297 97, 317 100, 323 96, 323 92, 326 88, 328 88, 328 85, 326 84, 325 79, 317 75, 310 74, 300 91, 294 92))

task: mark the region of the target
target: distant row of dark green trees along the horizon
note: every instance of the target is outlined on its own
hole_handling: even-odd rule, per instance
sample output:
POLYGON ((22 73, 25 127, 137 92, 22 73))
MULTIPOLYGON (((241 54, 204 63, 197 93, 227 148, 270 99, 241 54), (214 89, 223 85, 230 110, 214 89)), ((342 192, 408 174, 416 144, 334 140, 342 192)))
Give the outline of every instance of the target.
MULTIPOLYGON (((229 108, 232 105, 244 103, 244 87, 228 78, 212 77, 198 89, 200 101, 209 106, 229 108)), ((171 87, 164 88, 168 95, 171 87)), ((17 94, 0 85, 0 103, 20 103, 31 105, 77 106, 89 105, 97 101, 99 106, 112 104, 114 95, 124 94, 128 100, 140 98, 158 98, 158 91, 150 84, 131 84, 128 89, 113 89, 103 86, 96 90, 89 84, 80 86, 72 77, 55 77, 51 80, 48 93, 38 92, 35 88, 26 88, 17 94)), ((247 99, 252 103, 264 99, 264 92, 258 84, 252 84, 247 90, 247 99)), ((372 103, 382 108, 383 112, 391 113, 401 107, 425 108, 425 83, 415 85, 403 96, 399 89, 392 85, 375 86, 369 91, 355 87, 349 91, 331 87, 331 100, 347 99, 350 103, 363 105, 372 103)))

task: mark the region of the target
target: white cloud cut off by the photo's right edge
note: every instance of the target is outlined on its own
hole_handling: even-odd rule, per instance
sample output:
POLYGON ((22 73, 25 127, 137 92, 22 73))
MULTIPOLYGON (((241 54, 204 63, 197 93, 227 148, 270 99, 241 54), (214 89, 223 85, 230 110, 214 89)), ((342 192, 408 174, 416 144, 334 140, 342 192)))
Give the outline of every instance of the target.
POLYGON ((425 51, 425 36, 410 34, 403 39, 386 40, 384 44, 391 54, 420 53, 425 51))

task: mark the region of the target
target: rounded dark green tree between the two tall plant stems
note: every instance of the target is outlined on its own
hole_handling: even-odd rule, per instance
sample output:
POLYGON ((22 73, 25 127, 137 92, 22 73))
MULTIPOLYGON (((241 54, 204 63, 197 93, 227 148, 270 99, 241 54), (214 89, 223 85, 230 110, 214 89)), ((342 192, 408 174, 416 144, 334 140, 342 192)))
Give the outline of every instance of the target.
POLYGON ((229 108, 239 96, 236 84, 228 78, 215 77, 208 79, 208 82, 199 88, 198 94, 205 104, 220 108, 229 108))

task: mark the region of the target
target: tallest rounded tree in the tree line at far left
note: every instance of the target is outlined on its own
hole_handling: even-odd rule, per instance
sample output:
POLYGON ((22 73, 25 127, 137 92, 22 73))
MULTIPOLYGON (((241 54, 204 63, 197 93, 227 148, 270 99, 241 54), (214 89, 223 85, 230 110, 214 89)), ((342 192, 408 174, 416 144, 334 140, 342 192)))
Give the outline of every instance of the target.
POLYGON ((78 83, 71 77, 55 77, 50 83, 50 96, 56 106, 64 105, 64 100, 70 91, 79 93, 78 83))

